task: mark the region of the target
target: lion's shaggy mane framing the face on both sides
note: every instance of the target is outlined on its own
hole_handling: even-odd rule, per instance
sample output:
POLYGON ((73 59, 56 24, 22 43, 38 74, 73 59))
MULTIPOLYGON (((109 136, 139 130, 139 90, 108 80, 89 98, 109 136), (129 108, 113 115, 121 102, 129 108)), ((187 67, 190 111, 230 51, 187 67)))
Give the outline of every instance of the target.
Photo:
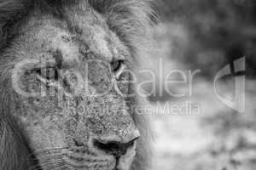
MULTIPOLYGON (((71 5, 78 0, 1 0, 0 2, 0 48, 4 50, 15 36, 15 25, 33 8, 47 9, 53 13, 61 14, 62 5, 71 5), (65 3, 64 3, 65 2, 65 3), (30 10, 29 10, 30 9, 30 10)), ((85 0, 84 0, 85 1, 85 0)), ((121 41, 130 48, 135 58, 144 57, 148 47, 148 37, 154 13, 150 7, 150 0, 87 0, 99 13, 107 18, 109 28, 114 31, 121 41)), ((1 170, 27 170, 36 164, 32 158, 25 135, 11 117, 8 108, 11 93, 10 72, 12 66, 4 63, 1 56, 1 112, 0 112, 0 169, 1 170), (2 63, 2 65, 1 65, 2 63), (4 64, 3 64, 4 63, 4 64), (5 65, 5 66, 4 66, 5 65), (31 158, 31 159, 27 159, 31 158)), ((137 149, 137 158, 132 170, 146 170, 149 167, 150 157, 150 131, 148 121, 143 115, 134 117, 142 133, 137 149)))

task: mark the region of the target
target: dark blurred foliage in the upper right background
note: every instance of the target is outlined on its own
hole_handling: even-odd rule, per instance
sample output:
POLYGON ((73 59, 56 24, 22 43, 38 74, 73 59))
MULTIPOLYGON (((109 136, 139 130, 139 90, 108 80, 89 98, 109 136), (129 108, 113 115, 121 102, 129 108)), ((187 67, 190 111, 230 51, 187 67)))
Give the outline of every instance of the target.
POLYGON ((181 61, 201 68, 218 65, 203 71, 212 76, 215 69, 246 56, 247 76, 255 77, 256 1, 158 1, 162 21, 181 24, 189 31, 189 47, 179 58, 181 61))

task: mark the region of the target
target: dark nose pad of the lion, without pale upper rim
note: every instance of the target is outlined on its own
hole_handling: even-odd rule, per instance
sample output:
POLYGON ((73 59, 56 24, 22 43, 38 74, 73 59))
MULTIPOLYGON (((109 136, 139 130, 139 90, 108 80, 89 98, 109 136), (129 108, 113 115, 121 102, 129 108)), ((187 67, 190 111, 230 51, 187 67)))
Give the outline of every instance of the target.
POLYGON ((106 143, 105 141, 95 140, 94 146, 99 150, 105 151, 109 155, 119 158, 120 156, 124 156, 126 151, 134 146, 137 139, 138 138, 132 139, 128 143, 120 143, 115 141, 109 141, 106 143))

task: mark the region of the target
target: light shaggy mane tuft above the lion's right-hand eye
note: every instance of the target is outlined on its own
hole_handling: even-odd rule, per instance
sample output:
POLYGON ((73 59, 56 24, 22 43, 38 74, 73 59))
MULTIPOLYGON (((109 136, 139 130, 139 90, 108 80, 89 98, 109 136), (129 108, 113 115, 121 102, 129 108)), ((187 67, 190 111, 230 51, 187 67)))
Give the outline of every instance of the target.
POLYGON ((88 0, 108 21, 109 28, 125 42, 134 58, 147 58, 152 26, 157 21, 152 0, 88 0))

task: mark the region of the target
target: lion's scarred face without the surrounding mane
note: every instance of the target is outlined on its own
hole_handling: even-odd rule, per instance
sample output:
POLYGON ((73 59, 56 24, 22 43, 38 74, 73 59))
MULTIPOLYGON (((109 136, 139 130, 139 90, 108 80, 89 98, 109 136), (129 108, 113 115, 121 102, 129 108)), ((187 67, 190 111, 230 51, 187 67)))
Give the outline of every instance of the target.
POLYGON ((95 11, 31 14, 8 53, 18 118, 44 170, 128 170, 140 136, 130 53, 95 11), (126 81, 126 82, 125 82, 126 81))

